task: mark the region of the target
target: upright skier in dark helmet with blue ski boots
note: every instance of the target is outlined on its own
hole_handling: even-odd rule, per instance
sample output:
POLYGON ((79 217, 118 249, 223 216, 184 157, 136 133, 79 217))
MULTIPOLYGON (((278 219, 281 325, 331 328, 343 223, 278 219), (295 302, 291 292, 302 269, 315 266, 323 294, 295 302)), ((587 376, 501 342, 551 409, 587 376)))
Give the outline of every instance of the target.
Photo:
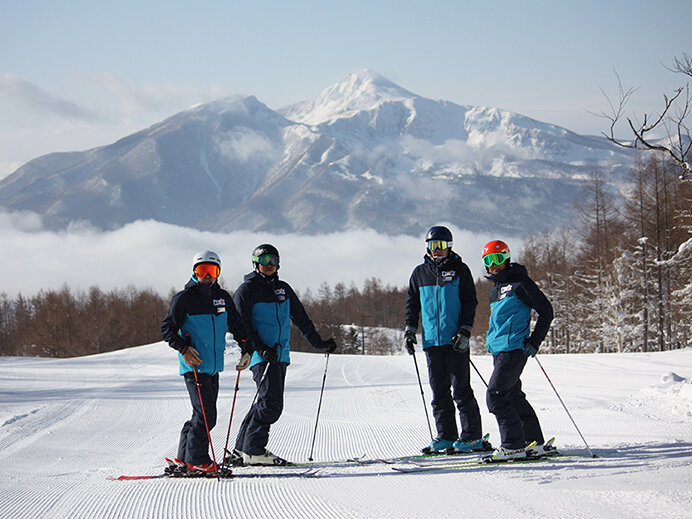
POLYGON ((469 338, 478 304, 471 271, 452 250, 452 232, 447 227, 431 227, 425 242, 423 263, 413 270, 409 280, 404 332, 406 350, 413 355, 420 315, 437 428, 437 438, 422 452, 488 450, 469 373, 469 338))

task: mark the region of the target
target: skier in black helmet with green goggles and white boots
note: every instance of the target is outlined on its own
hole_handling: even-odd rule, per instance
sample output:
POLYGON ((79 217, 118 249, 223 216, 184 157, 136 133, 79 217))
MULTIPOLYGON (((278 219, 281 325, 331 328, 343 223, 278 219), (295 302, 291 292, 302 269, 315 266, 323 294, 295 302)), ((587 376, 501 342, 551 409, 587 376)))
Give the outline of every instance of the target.
POLYGON ((253 271, 247 274, 233 300, 260 344, 250 362, 257 398, 236 438, 231 463, 285 465, 286 460, 266 449, 269 428, 283 411, 284 381, 290 364, 291 321, 315 348, 336 349, 334 339, 322 340, 291 286, 279 279, 279 251, 264 243, 252 251, 253 271))

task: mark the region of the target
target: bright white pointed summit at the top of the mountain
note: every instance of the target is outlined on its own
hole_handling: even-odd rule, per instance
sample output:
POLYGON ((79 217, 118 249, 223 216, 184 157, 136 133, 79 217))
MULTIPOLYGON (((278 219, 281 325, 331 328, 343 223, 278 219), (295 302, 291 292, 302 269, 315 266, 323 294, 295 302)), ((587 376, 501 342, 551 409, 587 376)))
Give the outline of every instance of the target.
POLYGON ((279 110, 285 117, 311 126, 376 110, 387 102, 408 102, 415 94, 372 70, 363 69, 325 88, 317 97, 279 110))

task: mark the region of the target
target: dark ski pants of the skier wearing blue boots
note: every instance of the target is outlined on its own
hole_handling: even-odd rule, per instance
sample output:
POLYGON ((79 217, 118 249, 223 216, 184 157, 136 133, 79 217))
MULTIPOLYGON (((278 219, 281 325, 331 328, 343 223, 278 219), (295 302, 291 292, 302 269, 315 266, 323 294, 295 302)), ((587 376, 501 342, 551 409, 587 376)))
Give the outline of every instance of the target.
POLYGON ((458 352, 451 345, 426 348, 428 378, 432 390, 432 409, 437 437, 456 441, 477 440, 482 434, 481 413, 473 395, 469 372, 469 350, 458 352), (451 391, 450 391, 451 387, 451 391), (456 404, 461 420, 458 435, 456 404))

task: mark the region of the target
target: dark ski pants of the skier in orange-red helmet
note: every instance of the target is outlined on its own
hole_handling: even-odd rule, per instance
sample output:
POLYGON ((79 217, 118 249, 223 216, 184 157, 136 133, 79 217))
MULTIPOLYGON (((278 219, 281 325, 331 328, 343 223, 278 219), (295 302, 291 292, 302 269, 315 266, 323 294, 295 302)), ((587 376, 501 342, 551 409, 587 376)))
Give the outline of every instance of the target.
POLYGON ((523 350, 503 351, 493 358, 486 400, 506 449, 520 449, 532 441, 539 445, 544 442, 536 412, 526 400, 519 380, 527 358, 523 350))

